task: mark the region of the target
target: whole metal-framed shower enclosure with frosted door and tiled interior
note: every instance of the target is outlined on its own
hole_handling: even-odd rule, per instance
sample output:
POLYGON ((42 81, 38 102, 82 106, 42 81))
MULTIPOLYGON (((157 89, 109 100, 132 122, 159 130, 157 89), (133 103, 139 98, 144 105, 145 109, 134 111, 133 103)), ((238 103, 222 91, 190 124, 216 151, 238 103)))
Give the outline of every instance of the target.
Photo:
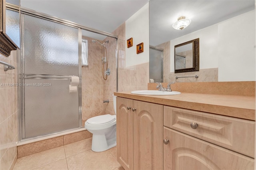
POLYGON ((86 119, 110 113, 102 101, 117 90, 117 36, 27 8, 20 22, 19 140, 79 130, 86 119), (104 80, 106 55, 111 77, 104 80), (79 77, 73 93, 71 76, 79 77))

